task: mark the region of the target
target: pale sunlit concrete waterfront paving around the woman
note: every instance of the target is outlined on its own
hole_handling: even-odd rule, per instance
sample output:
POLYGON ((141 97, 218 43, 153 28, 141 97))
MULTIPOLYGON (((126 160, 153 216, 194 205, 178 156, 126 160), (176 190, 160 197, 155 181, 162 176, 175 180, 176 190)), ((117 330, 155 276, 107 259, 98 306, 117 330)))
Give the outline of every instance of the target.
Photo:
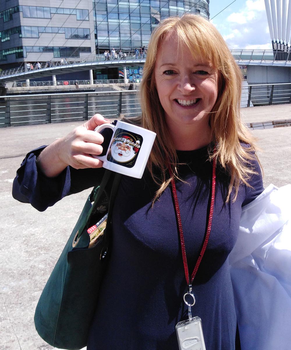
MULTIPOLYGON (((246 123, 288 120, 291 104, 241 110, 246 123)), ((66 197, 45 212, 12 198, 17 168, 32 148, 46 145, 82 124, 62 123, 0 129, 0 350, 47 350, 34 328, 39 295, 90 190, 66 197)), ((255 128, 264 185, 291 183, 291 127, 255 128)), ((81 322, 81 320, 80 320, 81 322)))

